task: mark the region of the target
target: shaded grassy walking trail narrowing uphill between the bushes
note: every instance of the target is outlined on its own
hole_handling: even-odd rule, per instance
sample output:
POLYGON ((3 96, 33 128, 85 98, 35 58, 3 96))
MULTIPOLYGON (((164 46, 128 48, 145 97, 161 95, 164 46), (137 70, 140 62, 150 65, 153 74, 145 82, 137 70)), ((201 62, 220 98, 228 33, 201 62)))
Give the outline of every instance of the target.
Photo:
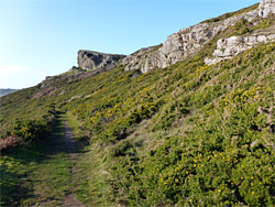
POLYGON ((32 178, 34 195, 41 200, 34 206, 84 206, 74 194, 78 184, 75 178, 75 165, 79 160, 77 150, 67 116, 58 115, 44 152, 48 160, 41 163, 32 178))

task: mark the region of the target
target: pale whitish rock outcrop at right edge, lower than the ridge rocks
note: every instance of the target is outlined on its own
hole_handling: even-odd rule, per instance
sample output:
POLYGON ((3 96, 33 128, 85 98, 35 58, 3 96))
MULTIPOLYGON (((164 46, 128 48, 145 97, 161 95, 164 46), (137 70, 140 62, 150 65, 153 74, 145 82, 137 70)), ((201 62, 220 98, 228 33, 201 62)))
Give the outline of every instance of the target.
POLYGON ((217 42, 217 50, 213 52, 213 58, 207 57, 205 63, 207 65, 216 64, 222 59, 232 58, 239 53, 252 48, 260 43, 267 43, 272 41, 275 41, 275 34, 221 39, 217 42))

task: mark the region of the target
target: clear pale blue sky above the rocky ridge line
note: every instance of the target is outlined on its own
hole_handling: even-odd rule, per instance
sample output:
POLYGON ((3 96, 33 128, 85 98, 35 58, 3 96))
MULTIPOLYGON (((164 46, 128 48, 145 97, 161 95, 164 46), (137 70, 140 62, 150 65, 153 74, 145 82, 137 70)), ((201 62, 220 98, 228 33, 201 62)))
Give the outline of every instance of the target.
POLYGON ((260 0, 0 0, 0 88, 77 66, 78 50, 129 55, 260 0))

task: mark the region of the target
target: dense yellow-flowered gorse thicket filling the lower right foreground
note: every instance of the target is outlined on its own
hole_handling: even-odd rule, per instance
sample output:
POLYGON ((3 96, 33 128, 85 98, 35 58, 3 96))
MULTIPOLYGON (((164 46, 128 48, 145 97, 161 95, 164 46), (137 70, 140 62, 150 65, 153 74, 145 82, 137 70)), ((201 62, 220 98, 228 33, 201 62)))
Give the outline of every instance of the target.
POLYGON ((222 97, 221 107, 207 111, 218 116, 195 124, 186 135, 167 137, 138 162, 122 156, 113 172, 129 204, 271 206, 275 140, 257 111, 263 99, 274 102, 271 91, 233 91, 222 97))

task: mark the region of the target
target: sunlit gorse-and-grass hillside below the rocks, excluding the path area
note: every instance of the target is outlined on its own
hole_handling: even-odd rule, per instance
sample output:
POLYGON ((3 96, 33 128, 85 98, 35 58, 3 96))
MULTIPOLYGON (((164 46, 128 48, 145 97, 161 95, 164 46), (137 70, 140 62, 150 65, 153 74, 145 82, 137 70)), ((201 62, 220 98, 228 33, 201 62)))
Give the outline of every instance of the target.
POLYGON ((2 130, 51 109, 76 117, 90 142, 76 190, 87 206, 272 206, 275 44, 206 66, 234 33, 164 69, 118 67, 2 97, 2 130))

